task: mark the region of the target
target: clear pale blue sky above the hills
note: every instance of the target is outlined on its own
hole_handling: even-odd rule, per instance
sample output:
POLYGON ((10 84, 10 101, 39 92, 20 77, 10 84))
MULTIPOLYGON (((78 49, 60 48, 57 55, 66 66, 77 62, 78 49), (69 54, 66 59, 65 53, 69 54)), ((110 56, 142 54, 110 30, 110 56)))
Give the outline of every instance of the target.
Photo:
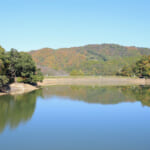
POLYGON ((0 45, 150 47, 149 0, 0 0, 0 45))

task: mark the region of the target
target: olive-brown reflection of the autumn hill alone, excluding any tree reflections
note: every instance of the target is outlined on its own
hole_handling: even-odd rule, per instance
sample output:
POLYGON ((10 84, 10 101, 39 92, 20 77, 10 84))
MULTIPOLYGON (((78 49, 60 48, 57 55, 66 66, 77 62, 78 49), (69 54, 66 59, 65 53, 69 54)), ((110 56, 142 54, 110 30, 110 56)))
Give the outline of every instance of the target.
POLYGON ((45 96, 64 96, 88 103, 117 104, 135 99, 125 95, 120 87, 51 86, 43 89, 45 96))

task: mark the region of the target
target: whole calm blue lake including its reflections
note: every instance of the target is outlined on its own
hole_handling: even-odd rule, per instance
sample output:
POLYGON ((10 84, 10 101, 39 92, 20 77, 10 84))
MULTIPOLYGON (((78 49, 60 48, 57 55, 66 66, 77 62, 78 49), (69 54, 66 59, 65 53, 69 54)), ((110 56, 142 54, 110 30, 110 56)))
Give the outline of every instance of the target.
POLYGON ((150 150, 150 87, 51 86, 0 97, 0 150, 150 150))

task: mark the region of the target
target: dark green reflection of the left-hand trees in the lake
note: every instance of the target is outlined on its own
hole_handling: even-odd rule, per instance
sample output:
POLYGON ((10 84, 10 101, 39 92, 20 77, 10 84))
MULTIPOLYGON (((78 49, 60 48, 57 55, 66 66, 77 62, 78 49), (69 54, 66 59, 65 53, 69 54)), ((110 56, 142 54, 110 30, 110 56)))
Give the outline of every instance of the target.
POLYGON ((36 98, 41 92, 42 90, 37 90, 17 96, 0 96, 0 132, 6 125, 15 128, 28 121, 34 113, 36 98))

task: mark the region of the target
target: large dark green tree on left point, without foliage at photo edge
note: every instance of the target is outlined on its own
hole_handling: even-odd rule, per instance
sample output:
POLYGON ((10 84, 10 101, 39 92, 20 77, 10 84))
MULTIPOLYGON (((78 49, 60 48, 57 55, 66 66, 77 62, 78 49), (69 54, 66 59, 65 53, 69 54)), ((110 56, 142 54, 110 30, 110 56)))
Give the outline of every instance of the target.
POLYGON ((43 75, 37 69, 31 55, 11 49, 5 56, 6 74, 10 82, 19 81, 35 84, 43 80, 43 75), (19 79, 16 80, 16 77, 19 79))

